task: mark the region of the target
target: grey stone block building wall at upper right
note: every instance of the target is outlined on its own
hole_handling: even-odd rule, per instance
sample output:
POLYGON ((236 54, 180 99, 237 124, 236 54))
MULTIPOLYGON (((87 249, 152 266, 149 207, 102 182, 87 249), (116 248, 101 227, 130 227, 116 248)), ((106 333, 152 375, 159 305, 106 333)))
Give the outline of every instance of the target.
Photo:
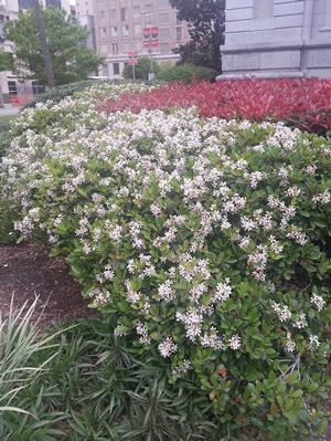
POLYGON ((331 77, 331 0, 226 0, 222 77, 331 77))

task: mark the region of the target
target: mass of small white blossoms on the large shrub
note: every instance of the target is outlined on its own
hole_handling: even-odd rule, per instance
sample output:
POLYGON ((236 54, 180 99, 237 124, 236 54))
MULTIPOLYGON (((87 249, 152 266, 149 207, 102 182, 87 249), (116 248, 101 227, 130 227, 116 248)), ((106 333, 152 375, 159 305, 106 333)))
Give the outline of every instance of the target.
MULTIPOLYGON (((116 98, 132 87, 111 86, 107 93, 116 98)), ((160 330, 162 357, 182 350, 169 329, 163 332, 162 321, 172 321, 193 345, 214 350, 245 346, 241 329, 220 332, 220 311, 227 314, 241 282, 231 275, 237 264, 227 254, 233 250, 241 255, 241 271, 269 290, 270 311, 281 326, 306 328, 307 312, 297 315, 271 300, 277 287, 270 275, 287 248, 309 243, 297 216, 301 201, 330 202, 328 190, 314 187, 309 195, 291 178, 286 158, 300 133, 264 123, 264 139, 238 150, 237 130, 249 130, 250 123, 201 119, 192 109, 106 115, 92 95, 86 91, 56 105, 41 104, 17 119, 19 135, 2 159, 0 180, 3 193, 23 208, 17 222, 22 235, 40 229, 61 248, 62 234, 71 233, 76 253, 84 254, 82 264, 95 265, 86 274, 93 302, 113 304, 114 296, 120 297, 141 344, 150 344, 153 330, 160 330), (55 123, 34 130, 35 115, 45 111, 55 123), (279 151, 284 161, 258 170, 269 150, 279 151), (255 156, 255 166, 241 155, 255 156), (274 187, 265 188, 268 181, 277 182, 273 193, 274 187)), ((318 161, 302 168, 306 178, 317 174, 318 161)), ((310 304, 320 312, 325 302, 314 294, 310 304)), ((119 323, 118 335, 121 329, 119 323)), ((295 350, 291 338, 285 344, 288 351, 295 350)), ((309 344, 318 346, 314 337, 309 344)), ((189 365, 184 360, 174 371, 181 375, 189 365)))

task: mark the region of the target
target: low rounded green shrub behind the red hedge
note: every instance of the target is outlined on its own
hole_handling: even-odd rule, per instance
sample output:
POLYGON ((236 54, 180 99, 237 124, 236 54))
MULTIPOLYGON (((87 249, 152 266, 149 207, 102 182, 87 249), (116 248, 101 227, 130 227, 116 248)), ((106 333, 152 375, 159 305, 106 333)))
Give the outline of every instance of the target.
POLYGON ((175 65, 161 65, 158 72, 158 80, 164 82, 181 81, 184 83, 192 83, 193 81, 214 80, 217 75, 216 71, 210 67, 196 66, 194 64, 175 64, 175 65))

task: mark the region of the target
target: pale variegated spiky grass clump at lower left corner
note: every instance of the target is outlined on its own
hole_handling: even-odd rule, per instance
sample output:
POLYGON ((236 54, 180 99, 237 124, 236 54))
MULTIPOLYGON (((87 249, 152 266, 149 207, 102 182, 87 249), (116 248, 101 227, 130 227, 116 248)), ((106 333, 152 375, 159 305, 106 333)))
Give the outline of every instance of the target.
MULTIPOLYGON (((30 305, 25 302, 20 308, 14 307, 14 301, 12 297, 8 317, 0 315, 0 438, 3 441, 51 440, 47 435, 54 435, 57 431, 47 432, 45 421, 35 414, 42 387, 39 388, 39 397, 35 397, 36 406, 26 406, 26 397, 36 388, 56 356, 56 333, 44 336, 36 325, 31 325, 36 300, 30 305), (42 360, 40 354, 43 354, 42 360), (35 438, 29 429, 25 430, 26 421, 31 421, 30 428, 35 429, 35 438)), ((47 418, 57 420, 58 416, 50 409, 47 418)))

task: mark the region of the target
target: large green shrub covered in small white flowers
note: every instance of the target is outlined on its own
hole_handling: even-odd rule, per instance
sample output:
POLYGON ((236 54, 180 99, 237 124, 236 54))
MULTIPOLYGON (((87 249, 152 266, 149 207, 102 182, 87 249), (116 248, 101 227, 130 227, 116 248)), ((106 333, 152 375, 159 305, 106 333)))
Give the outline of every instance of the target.
POLYGON ((65 255, 171 381, 201 384, 224 440, 322 431, 330 141, 194 109, 106 115, 86 94, 17 120, 1 164, 17 230, 65 255))

